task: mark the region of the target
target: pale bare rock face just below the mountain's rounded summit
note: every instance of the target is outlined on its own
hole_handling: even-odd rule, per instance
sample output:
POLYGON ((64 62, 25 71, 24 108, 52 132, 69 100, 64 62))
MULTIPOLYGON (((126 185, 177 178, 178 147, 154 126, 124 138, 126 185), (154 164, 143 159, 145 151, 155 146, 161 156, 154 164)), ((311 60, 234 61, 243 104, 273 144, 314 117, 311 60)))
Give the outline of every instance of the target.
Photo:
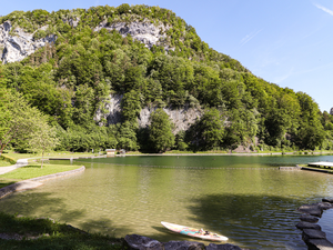
POLYGON ((165 44, 167 34, 164 32, 170 27, 165 27, 163 23, 155 26, 149 21, 133 21, 131 23, 118 22, 108 26, 108 22, 103 21, 93 31, 100 31, 103 28, 107 30, 117 30, 122 37, 131 34, 133 39, 144 43, 149 49, 153 46, 163 46, 165 50, 173 50, 165 44))

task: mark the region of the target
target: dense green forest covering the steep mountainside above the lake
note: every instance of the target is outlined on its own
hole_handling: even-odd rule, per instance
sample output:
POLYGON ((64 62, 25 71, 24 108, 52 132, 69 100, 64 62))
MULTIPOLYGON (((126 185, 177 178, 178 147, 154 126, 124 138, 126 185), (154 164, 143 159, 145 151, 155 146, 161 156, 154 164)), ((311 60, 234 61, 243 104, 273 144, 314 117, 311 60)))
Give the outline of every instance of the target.
MULTIPOLYGON (((333 149, 333 117, 322 113, 309 94, 253 76, 239 61, 210 48, 170 10, 122 4, 51 13, 14 11, 1 17, 0 24, 7 20, 31 33, 48 26, 34 39, 48 34, 58 39, 20 62, 0 67, 0 109, 4 110, 0 146, 9 121, 18 116, 6 96, 17 94, 47 116, 57 130, 57 150, 333 149), (93 31, 103 21, 169 27, 164 47, 149 49, 118 31, 93 31), (93 118, 98 110, 107 112, 110 94, 123 94, 122 121, 97 122, 93 118), (143 107, 158 108, 149 128, 139 128, 143 107), (203 116, 186 131, 173 134, 163 108, 184 107, 201 109, 203 116)), ((6 147, 22 150, 27 143, 13 138, 6 147)))

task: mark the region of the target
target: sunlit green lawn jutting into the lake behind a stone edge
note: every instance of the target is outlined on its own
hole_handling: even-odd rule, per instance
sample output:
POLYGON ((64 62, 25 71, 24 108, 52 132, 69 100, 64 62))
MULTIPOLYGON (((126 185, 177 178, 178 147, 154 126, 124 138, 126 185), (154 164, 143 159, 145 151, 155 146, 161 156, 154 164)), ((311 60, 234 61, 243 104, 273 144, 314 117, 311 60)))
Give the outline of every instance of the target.
POLYGON ((0 176, 0 180, 27 180, 36 177, 43 177, 52 173, 64 172, 69 170, 74 170, 80 168, 79 166, 65 166, 65 164, 43 164, 41 168, 40 164, 29 164, 16 169, 11 172, 0 176))

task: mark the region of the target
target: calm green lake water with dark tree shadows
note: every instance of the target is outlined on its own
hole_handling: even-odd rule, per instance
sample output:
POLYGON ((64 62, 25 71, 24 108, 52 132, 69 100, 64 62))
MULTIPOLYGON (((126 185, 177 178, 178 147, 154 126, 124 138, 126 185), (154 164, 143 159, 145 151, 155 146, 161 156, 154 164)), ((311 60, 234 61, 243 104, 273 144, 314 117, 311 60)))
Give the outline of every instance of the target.
POLYGON ((333 162, 333 156, 80 159, 73 163, 85 166, 84 172, 9 196, 0 211, 115 237, 192 240, 164 229, 160 222, 168 221, 218 232, 243 248, 307 249, 295 228, 296 209, 332 198, 333 174, 278 167, 320 160, 333 162))

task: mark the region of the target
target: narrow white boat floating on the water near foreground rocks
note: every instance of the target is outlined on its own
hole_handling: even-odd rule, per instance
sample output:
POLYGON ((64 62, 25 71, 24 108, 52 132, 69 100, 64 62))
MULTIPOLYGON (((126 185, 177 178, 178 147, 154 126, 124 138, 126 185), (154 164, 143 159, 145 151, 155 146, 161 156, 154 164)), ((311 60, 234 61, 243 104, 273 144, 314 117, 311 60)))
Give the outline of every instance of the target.
POLYGON ((202 229, 190 228, 190 227, 169 223, 169 222, 164 222, 164 221, 161 221, 161 223, 169 230, 184 234, 184 236, 200 238, 202 240, 212 240, 212 241, 228 240, 228 238, 224 236, 220 236, 218 233, 213 233, 213 232, 209 232, 209 231, 203 231, 202 229))

